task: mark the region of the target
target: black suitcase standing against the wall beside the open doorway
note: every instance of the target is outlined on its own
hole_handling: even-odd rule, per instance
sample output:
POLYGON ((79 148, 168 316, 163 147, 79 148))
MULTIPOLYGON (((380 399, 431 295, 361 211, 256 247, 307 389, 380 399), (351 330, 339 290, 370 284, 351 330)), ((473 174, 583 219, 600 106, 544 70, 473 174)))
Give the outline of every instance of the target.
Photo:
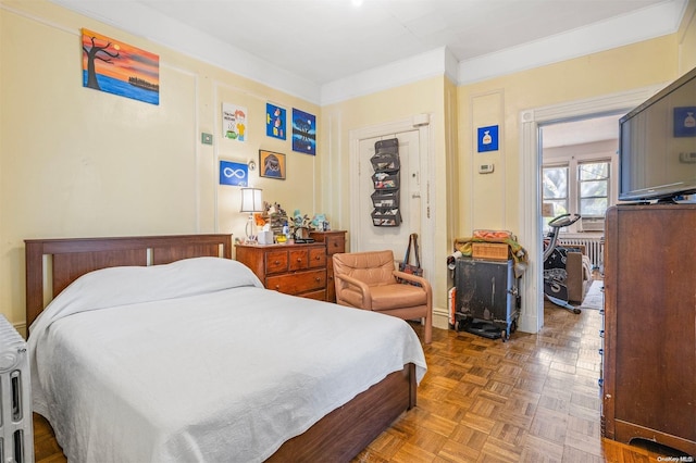
POLYGON ((506 340, 520 315, 513 262, 461 258, 455 267, 456 329, 506 340))

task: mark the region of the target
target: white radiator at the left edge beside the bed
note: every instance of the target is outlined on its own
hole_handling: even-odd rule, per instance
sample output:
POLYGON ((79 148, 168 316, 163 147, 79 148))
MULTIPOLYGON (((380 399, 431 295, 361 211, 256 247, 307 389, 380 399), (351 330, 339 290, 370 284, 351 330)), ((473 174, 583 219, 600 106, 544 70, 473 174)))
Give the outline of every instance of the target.
POLYGON ((26 342, 0 315, 0 458, 34 462, 32 387, 26 342))

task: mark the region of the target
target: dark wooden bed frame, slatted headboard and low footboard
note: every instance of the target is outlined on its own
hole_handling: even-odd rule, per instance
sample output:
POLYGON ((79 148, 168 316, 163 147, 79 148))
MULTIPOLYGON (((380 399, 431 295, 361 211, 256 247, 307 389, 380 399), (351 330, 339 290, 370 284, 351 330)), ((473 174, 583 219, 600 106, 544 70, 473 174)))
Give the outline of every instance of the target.
MULTIPOLYGON (((196 256, 232 259, 231 235, 27 239, 25 246, 27 333, 48 301, 85 273, 196 256)), ((408 364, 286 441, 269 461, 349 461, 415 406, 415 366, 408 364)))

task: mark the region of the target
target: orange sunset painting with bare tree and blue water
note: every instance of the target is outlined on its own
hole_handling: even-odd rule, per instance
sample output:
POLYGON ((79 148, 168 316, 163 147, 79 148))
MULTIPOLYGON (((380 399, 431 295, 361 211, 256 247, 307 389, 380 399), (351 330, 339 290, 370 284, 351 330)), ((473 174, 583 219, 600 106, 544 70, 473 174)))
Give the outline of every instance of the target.
POLYGON ((83 29, 83 86, 160 104, 160 57, 83 29))

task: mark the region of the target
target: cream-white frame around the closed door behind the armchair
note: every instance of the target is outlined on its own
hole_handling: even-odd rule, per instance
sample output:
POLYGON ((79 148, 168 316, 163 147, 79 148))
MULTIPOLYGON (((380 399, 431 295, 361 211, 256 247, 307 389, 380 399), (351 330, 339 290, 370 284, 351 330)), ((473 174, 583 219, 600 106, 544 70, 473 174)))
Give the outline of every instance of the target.
MULTIPOLYGON (((361 140, 388 137, 403 132, 419 132, 419 157, 421 172, 421 235, 419 236, 419 248, 421 251, 421 265, 425 275, 434 275, 435 272, 435 243, 433 235, 424 230, 432 229, 435 224, 436 207, 434 198, 433 170, 434 165, 435 139, 433 136, 433 115, 418 114, 412 117, 405 117, 385 124, 369 127, 356 128, 349 132, 350 143, 350 191, 359 190, 359 168, 360 168, 360 142, 361 140)), ((358 230, 364 226, 366 221, 360 217, 360 207, 357 201, 350 201, 350 229, 358 230)), ((369 224, 372 226, 372 223, 369 224)), ((360 251, 360 234, 350 234, 350 251, 360 251)), ((395 255, 398 259, 398 255, 395 255)))

